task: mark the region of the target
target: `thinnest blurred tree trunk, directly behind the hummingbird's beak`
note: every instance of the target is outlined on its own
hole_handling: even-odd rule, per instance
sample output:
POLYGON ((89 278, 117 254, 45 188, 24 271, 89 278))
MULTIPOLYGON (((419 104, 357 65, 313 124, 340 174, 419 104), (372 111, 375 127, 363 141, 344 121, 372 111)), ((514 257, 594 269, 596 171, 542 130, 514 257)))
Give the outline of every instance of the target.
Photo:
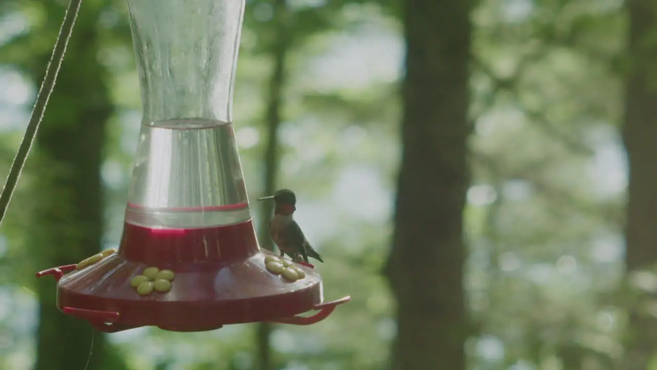
MULTIPOLYGON (((290 34, 286 20, 288 18, 284 0, 277 0, 274 7, 272 21, 271 45, 269 45, 272 59, 271 76, 269 77, 269 90, 267 95, 267 111, 265 123, 267 125, 267 146, 263 156, 265 163, 265 176, 263 192, 266 196, 276 191, 277 175, 279 169, 279 126, 281 125, 281 100, 285 86, 285 61, 290 49, 290 34)), ((264 201, 260 205, 260 246, 265 250, 273 251, 273 241, 269 236, 267 220, 271 217, 273 202, 264 201)), ((258 350, 258 370, 273 370, 271 361, 271 323, 258 323, 256 329, 256 347, 258 350)))

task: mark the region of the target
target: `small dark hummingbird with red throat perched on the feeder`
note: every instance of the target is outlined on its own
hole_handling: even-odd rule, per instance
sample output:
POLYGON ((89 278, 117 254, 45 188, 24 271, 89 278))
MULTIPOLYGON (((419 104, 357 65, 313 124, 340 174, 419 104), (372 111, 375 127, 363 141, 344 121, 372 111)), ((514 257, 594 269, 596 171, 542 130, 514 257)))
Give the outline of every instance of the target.
POLYGON ((273 196, 258 198, 258 200, 274 199, 276 206, 274 216, 269 221, 269 235, 279 247, 281 257, 289 255, 294 261, 299 255, 306 263, 308 257, 324 262, 322 256, 310 245, 299 224, 294 221, 292 214, 296 211, 296 196, 292 190, 281 189, 273 196))

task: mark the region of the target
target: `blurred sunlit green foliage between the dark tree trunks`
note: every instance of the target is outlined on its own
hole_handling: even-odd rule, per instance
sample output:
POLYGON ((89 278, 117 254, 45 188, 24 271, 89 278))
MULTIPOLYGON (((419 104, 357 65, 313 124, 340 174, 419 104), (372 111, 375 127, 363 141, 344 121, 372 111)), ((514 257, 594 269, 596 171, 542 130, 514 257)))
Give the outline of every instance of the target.
MULTIPOLYGON (((248 2, 235 91, 240 155, 252 195, 261 192, 261 117, 271 48, 279 37, 270 32, 271 4, 248 2), (252 145, 244 138, 251 138, 252 145)), ((41 76, 57 36, 61 2, 5 1, 0 12, 0 19, 21 18, 28 24, 2 45, 0 64, 24 76, 41 76)), ((624 307, 635 298, 621 279, 625 174, 622 166, 605 161, 622 162, 616 132, 622 116, 620 84, 631 67, 622 53, 625 15, 614 2, 585 0, 482 0, 472 14, 474 178, 464 217, 470 241, 466 290, 473 369, 566 369, 568 361, 585 364, 572 369, 618 368, 624 307), (612 171, 620 173, 604 176, 612 171)), ((350 294, 353 302, 312 327, 278 327, 272 337, 275 361, 278 369, 295 364, 320 370, 384 369, 394 335, 394 302, 379 270, 390 241, 392 179, 399 156, 397 76, 330 84, 337 77, 328 74, 330 68, 317 72, 317 65, 344 54, 348 40, 356 39, 359 47, 348 49, 355 57, 333 59, 342 64, 331 68, 336 75, 354 68, 367 74, 370 70, 356 62, 373 53, 368 44, 378 35, 390 51, 380 59, 390 59, 388 65, 397 68, 402 50, 390 45, 401 37, 399 2, 328 1, 290 7, 287 16, 282 21, 292 45, 281 128, 281 186, 298 193, 298 221, 326 257, 327 263, 318 267, 325 298, 350 294), (364 31, 368 27, 373 29, 369 34, 364 31)), ((117 107, 108 122, 102 173, 104 239, 118 244, 140 119, 125 2, 110 6, 85 0, 78 29, 93 29, 102 40, 98 58, 107 68, 104 80, 117 107)), ((74 33, 75 43, 85 38, 74 33)), ((72 65, 69 71, 83 76, 95 73, 79 65, 76 55, 68 55, 66 63, 72 65)), ((38 83, 39 78, 32 80, 38 83)), ((68 87, 59 86, 55 94, 63 88, 68 87)), ((47 115, 64 120, 71 107, 87 103, 62 101, 47 115)), ((28 105, 18 108, 27 111, 28 105)), ((5 105, 0 109, 5 111, 5 105)), ((13 128, 0 136, 0 172, 7 172, 19 133, 13 128)), ((24 312, 30 311, 30 302, 34 305, 30 291, 39 251, 23 246, 24 210, 35 201, 26 188, 43 171, 28 163, 2 228, 7 251, 0 253, 0 281, 14 302, 11 307, 0 304, 9 310, 0 316, 0 367, 7 369, 25 368, 23 357, 32 361, 33 329, 12 322, 33 320, 24 312), (11 344, 4 346, 8 336, 11 344)), ((647 304, 637 299, 636 305, 647 304)), ((110 339, 136 369, 248 369, 254 363, 250 329, 195 334, 133 330, 110 339)))

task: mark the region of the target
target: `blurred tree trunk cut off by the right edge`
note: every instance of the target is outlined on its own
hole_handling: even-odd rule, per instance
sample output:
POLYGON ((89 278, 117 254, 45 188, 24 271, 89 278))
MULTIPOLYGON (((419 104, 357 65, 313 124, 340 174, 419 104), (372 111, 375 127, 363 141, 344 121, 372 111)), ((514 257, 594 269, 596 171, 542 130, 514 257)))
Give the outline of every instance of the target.
MULTIPOLYGON (((657 264, 657 4, 628 0, 629 38, 627 58, 631 68, 625 80, 623 140, 629 159, 627 199, 627 272, 651 269, 657 264)), ((657 354, 657 321, 630 309, 626 370, 647 368, 657 354)))

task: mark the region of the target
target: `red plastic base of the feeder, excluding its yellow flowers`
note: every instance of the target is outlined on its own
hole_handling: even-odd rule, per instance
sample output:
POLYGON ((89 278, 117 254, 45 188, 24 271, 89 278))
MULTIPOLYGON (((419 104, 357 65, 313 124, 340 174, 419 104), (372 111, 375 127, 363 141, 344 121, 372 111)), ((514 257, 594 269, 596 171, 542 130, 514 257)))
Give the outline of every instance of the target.
POLYGON ((252 221, 176 230, 126 223, 117 253, 83 269, 66 265, 37 277, 55 275, 59 309, 104 332, 143 326, 204 331, 257 321, 310 325, 350 301, 323 303, 312 265, 296 264, 306 276, 291 282, 267 270, 267 255, 274 254, 260 250, 252 221), (173 271, 168 291, 139 294, 131 285, 148 267, 173 271), (313 309, 320 311, 295 316, 313 309))

